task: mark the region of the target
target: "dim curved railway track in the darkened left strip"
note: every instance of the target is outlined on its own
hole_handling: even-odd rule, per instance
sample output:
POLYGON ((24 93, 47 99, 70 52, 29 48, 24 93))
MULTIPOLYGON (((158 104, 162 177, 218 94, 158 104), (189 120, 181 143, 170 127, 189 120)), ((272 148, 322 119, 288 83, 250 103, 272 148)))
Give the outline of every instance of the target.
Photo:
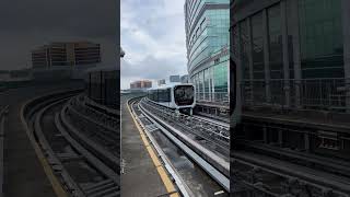
MULTIPOLYGON (((119 196, 118 154, 105 151, 86 129, 73 124, 80 123, 70 111, 78 101, 75 94, 60 93, 27 103, 23 113, 26 125, 67 196, 119 196)), ((95 128, 104 126, 98 124, 91 121, 95 128)))

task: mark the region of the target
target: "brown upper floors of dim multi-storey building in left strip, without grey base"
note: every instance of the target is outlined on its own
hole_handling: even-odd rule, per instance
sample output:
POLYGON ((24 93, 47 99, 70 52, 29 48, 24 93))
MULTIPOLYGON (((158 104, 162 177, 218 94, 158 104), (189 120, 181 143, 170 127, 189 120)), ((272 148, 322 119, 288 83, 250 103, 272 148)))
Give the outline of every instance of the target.
POLYGON ((73 67, 100 62, 100 44, 90 42, 50 43, 32 50, 33 68, 73 67))

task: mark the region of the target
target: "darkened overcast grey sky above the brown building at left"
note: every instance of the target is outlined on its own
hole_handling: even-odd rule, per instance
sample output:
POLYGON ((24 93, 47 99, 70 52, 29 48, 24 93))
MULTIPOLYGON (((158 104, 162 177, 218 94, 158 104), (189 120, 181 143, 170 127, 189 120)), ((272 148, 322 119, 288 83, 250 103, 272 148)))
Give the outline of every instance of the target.
POLYGON ((0 70, 31 67, 31 50, 50 42, 102 45, 102 61, 116 62, 116 1, 0 0, 0 70))

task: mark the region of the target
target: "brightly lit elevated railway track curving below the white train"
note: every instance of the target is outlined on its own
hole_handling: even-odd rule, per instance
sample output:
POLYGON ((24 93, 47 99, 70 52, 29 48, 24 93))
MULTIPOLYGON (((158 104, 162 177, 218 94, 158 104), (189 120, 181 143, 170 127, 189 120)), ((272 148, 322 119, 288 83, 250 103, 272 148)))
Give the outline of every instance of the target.
MULTIPOLYGON (((219 123, 207 121, 200 117, 178 114, 147 99, 131 99, 129 106, 154 143, 159 143, 158 147, 165 149, 165 151, 163 150, 165 153, 161 154, 164 155, 165 163, 172 166, 167 171, 173 172, 172 176, 176 177, 176 185, 182 194, 185 196, 186 194, 195 194, 196 196, 206 192, 202 194, 203 196, 211 196, 220 190, 223 196, 229 194, 228 127, 219 123), (165 139, 167 146, 162 147, 165 139), (166 147, 178 149, 183 152, 183 157, 187 158, 186 161, 190 161, 196 167, 199 167, 200 171, 196 171, 197 175, 194 174, 197 177, 186 176, 184 169, 176 167, 177 164, 173 164, 173 162, 178 161, 168 159, 174 157, 166 152, 166 147), (199 174, 202 177, 198 177, 198 172, 201 172, 199 174), (200 192, 196 188, 196 184, 197 187, 201 185, 205 188, 200 192)), ((163 151, 160 150, 160 152, 163 151)))

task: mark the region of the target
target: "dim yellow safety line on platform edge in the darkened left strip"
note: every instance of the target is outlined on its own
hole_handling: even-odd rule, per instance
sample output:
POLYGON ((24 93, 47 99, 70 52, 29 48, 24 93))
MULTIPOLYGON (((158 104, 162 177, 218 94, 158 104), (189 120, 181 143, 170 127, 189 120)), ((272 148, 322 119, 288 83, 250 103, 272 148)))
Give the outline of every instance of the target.
MULTIPOLYGON (((32 100, 34 101, 34 100, 32 100)), ((28 103, 31 103, 32 101, 30 101, 28 103)), ((22 107, 21 107, 21 120, 22 120, 22 124, 25 128, 25 132, 26 135, 28 136, 30 138, 30 141, 35 150, 35 153, 38 158, 38 160, 40 161, 43 167, 44 167, 44 172, 46 174, 46 176, 48 177, 50 184, 52 185, 52 188, 54 188, 54 192, 56 193, 56 195, 58 197, 68 197, 68 194, 66 193, 66 190, 63 189, 61 183, 58 181, 57 176, 54 174, 54 171, 50 167, 47 159, 44 157, 44 153, 43 151, 40 150, 40 148, 38 147, 37 142, 35 141, 33 135, 31 134, 30 129, 28 129, 28 126, 24 119, 24 107, 28 104, 23 104, 22 107)))

